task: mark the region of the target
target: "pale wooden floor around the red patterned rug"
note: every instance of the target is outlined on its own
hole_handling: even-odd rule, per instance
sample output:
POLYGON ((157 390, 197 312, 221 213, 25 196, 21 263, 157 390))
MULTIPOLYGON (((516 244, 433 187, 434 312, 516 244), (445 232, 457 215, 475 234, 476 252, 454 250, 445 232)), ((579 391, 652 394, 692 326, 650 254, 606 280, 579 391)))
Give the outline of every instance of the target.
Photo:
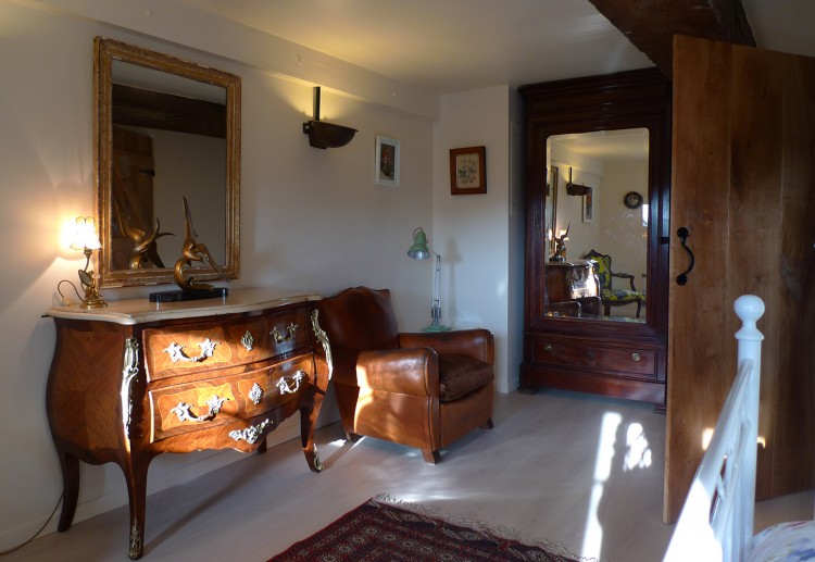
MULTIPOLYGON (((601 560, 662 559, 665 417, 637 402, 540 391, 496 395, 496 428, 475 432, 427 465, 416 450, 317 434, 322 474, 299 440, 148 498, 145 560, 267 560, 372 496, 421 503, 601 560)), ((235 453, 239 454, 239 453, 235 453)), ((811 519, 812 494, 763 502, 757 525, 811 519)), ((3 557, 127 560, 127 508, 3 557)))

